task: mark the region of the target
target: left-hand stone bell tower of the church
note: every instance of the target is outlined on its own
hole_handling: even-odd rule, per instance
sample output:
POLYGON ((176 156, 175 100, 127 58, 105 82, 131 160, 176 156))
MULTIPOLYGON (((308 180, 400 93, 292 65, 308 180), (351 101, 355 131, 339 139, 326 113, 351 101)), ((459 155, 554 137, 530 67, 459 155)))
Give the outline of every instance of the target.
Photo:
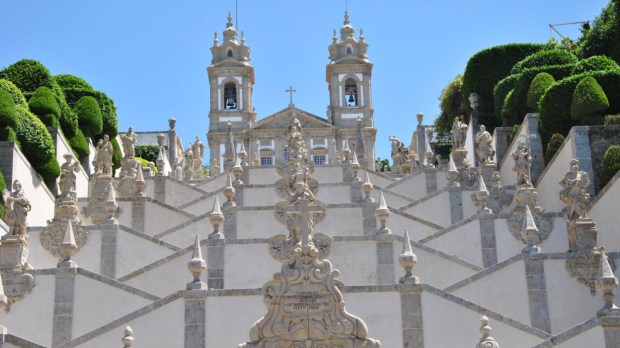
POLYGON ((228 124, 232 124, 235 141, 243 139, 245 130, 254 126, 256 111, 252 106, 254 88, 254 67, 250 65, 250 48, 245 44, 244 33, 241 40, 237 37, 232 16, 228 13, 228 22, 219 42, 215 32, 211 47, 211 65, 207 68, 209 75, 210 110, 209 110, 209 148, 211 163, 217 160, 220 167, 228 124))

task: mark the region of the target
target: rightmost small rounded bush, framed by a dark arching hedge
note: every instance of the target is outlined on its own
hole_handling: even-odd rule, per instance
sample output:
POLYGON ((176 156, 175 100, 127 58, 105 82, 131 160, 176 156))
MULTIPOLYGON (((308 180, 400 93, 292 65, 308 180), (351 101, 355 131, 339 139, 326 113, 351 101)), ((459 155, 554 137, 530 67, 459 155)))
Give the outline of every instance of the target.
POLYGON ((574 120, 600 116, 608 107, 609 100, 594 77, 587 76, 579 81, 570 106, 570 114, 574 120))

